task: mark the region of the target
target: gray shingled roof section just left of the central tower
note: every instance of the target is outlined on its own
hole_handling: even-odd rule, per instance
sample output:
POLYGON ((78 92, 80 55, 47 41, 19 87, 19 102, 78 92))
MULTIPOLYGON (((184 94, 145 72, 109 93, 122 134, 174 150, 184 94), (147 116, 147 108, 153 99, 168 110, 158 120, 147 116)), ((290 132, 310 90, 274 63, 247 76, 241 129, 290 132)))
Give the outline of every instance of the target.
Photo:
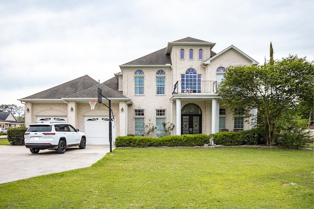
POLYGON ((135 59, 131 62, 123 65, 165 65, 171 64, 171 58, 169 54, 166 54, 167 48, 158 50, 157 52, 150 53, 141 58, 135 59))

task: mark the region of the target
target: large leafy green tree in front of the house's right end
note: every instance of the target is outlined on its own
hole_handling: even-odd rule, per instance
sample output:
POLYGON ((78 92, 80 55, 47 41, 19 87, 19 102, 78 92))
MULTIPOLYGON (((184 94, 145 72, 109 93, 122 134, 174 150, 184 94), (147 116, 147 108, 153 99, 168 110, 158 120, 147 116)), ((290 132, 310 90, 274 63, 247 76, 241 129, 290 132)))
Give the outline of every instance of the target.
POLYGON ((264 65, 231 66, 218 94, 223 105, 241 108, 246 118, 258 108, 266 144, 273 145, 285 114, 301 106, 304 112, 313 112, 313 72, 313 62, 296 55, 264 65))

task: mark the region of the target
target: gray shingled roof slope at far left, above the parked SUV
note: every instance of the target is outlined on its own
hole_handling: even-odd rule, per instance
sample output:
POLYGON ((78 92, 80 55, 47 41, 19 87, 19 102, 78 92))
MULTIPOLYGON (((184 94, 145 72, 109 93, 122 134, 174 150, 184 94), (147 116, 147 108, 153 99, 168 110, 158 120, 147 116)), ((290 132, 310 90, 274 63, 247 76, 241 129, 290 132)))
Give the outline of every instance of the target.
MULTIPOLYGON (((61 99, 99 84, 88 75, 76 78, 23 99, 61 99)), ((97 92, 97 91, 96 91, 97 92)), ((21 99, 23 101, 23 99, 21 99)))

